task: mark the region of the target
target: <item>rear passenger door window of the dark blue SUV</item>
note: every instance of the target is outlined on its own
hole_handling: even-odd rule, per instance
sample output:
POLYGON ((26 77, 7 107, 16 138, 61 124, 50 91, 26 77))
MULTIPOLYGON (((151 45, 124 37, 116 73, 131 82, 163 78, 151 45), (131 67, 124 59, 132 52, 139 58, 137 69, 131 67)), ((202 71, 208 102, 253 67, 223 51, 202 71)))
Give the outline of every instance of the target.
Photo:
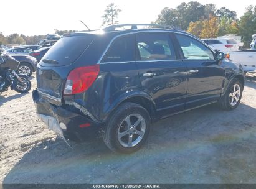
POLYGON ((175 60, 176 54, 167 33, 136 35, 136 60, 175 60))

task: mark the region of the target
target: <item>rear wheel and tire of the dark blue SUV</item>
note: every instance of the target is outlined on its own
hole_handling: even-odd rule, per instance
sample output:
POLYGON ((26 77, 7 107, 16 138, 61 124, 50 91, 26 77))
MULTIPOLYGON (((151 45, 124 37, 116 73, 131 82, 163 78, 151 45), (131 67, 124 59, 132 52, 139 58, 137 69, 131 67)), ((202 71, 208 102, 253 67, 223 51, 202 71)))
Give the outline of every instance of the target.
POLYGON ((145 108, 135 103, 123 103, 111 114, 103 141, 113 152, 130 154, 145 143, 150 127, 151 118, 145 108), (136 121, 140 122, 136 124, 136 121), (130 129, 129 125, 132 126, 130 129))

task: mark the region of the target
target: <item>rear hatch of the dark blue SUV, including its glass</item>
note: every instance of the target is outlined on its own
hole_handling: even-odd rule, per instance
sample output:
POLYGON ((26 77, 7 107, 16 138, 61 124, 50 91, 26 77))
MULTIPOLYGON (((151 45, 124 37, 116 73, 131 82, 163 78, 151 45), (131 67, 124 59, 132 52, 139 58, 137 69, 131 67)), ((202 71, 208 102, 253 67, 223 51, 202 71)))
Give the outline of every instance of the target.
POLYGON ((62 98, 65 80, 73 69, 73 64, 92 43, 94 37, 93 34, 71 34, 58 40, 39 62, 38 90, 55 98, 62 98))

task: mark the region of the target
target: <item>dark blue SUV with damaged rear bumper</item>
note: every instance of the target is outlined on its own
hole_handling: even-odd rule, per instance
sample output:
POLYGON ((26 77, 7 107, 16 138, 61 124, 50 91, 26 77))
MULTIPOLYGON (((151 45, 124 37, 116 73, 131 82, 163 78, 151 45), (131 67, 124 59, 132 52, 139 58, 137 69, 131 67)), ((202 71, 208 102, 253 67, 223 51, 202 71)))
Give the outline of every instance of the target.
POLYGON ((169 26, 111 25, 64 35, 39 62, 32 95, 39 117, 64 140, 102 136, 111 150, 130 153, 161 118, 239 105, 244 71, 224 58, 169 26))

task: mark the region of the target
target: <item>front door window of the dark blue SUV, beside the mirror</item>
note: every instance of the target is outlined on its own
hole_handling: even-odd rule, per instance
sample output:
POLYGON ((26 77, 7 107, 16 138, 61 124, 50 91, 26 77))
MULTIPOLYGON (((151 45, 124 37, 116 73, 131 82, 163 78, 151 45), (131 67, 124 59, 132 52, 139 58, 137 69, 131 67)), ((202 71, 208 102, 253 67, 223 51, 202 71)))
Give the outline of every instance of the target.
POLYGON ((181 45, 181 50, 184 53, 185 59, 214 60, 214 53, 198 40, 180 34, 176 34, 176 37, 181 45))

